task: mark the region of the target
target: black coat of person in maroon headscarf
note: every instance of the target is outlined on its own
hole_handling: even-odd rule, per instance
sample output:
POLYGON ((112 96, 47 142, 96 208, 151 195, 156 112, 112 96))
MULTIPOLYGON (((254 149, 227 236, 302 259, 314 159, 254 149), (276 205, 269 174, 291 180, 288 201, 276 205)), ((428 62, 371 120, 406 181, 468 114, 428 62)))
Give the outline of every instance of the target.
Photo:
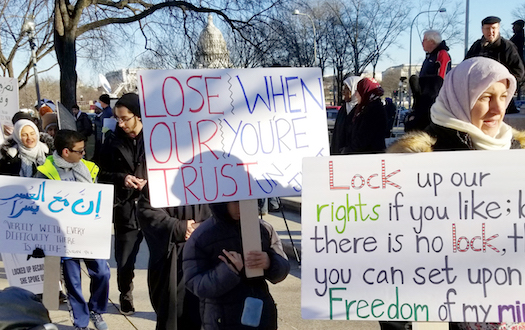
POLYGON ((367 104, 360 113, 354 108, 349 117, 343 154, 377 153, 385 150, 386 112, 380 99, 367 104))

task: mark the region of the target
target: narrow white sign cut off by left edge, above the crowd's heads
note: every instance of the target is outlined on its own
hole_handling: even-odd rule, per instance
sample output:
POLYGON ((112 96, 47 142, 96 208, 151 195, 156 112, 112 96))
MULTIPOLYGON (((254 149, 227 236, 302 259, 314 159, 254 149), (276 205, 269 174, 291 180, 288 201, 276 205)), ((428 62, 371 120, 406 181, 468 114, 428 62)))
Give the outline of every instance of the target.
POLYGON ((18 112, 18 81, 16 78, 0 77, 0 143, 12 131, 11 118, 18 112))

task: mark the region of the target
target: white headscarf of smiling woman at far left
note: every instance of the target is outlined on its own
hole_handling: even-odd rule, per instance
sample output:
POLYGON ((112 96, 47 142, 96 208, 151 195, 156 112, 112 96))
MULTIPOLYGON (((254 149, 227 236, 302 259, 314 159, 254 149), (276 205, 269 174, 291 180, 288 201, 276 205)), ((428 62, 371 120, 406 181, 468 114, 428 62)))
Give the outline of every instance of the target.
POLYGON ((13 140, 16 142, 16 149, 20 155, 22 166, 20 167, 20 176, 30 178, 33 176, 33 165, 40 166, 46 161, 46 155, 49 153, 49 148, 45 143, 40 142, 40 133, 36 125, 27 119, 20 119, 15 123, 13 129, 13 140), (22 129, 30 126, 36 133, 36 146, 28 148, 22 143, 22 129))

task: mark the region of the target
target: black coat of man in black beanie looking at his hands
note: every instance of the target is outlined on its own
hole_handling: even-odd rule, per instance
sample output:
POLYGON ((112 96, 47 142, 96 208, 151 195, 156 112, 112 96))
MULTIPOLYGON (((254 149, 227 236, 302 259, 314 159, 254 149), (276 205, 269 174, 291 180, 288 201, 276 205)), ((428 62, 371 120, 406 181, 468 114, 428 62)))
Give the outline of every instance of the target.
POLYGON ((113 221, 116 226, 138 228, 136 203, 140 191, 127 188, 124 179, 131 174, 146 178, 146 156, 142 131, 134 139, 120 127, 106 133, 100 155, 99 182, 113 184, 115 200, 113 221))

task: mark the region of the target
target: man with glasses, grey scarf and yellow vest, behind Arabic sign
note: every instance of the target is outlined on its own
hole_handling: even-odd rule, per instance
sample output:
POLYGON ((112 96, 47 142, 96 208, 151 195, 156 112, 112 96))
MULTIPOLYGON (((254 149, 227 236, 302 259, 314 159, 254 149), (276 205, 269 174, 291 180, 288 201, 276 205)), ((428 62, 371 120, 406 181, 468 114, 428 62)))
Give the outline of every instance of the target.
MULTIPOLYGON (((36 177, 95 183, 99 169, 95 163, 83 159, 85 153, 84 135, 77 131, 59 130, 55 135, 55 151, 37 168, 36 177)), ((75 329, 89 329, 90 319, 98 330, 108 329, 101 315, 108 306, 110 270, 107 260, 63 258, 62 265, 75 329), (91 278, 89 302, 82 295, 80 260, 84 260, 91 278)))

